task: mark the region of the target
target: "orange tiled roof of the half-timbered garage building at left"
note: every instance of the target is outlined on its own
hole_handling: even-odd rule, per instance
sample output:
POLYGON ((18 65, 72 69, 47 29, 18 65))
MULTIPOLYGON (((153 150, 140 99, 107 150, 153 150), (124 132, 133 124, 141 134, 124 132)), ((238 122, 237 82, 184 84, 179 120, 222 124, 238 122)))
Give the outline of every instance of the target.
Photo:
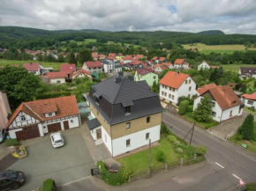
POLYGON ((21 103, 11 115, 11 119, 7 123, 6 128, 11 125, 11 122, 15 120, 21 111, 29 114, 38 121, 49 121, 71 115, 77 115, 79 114, 79 107, 74 95, 55 99, 41 99, 24 102, 21 103), (46 114, 46 112, 56 112, 56 116, 45 117, 44 114, 46 114))

